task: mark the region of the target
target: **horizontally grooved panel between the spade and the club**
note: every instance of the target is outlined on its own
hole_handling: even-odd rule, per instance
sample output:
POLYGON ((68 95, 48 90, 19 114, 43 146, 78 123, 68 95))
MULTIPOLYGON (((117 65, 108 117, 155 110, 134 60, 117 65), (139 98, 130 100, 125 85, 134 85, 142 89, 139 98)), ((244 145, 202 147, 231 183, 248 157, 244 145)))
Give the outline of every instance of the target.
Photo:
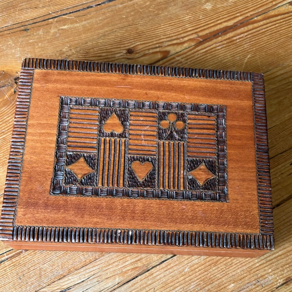
POLYGON ((155 156, 157 148, 157 113, 130 112, 129 155, 155 156))

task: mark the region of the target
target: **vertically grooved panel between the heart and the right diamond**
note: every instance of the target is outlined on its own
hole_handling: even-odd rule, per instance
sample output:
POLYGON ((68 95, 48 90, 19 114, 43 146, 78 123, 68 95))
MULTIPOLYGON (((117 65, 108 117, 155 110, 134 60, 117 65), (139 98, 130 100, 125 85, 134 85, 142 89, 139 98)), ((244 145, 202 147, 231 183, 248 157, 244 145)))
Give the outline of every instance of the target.
POLYGON ((158 188, 183 189, 184 143, 159 141, 158 188))

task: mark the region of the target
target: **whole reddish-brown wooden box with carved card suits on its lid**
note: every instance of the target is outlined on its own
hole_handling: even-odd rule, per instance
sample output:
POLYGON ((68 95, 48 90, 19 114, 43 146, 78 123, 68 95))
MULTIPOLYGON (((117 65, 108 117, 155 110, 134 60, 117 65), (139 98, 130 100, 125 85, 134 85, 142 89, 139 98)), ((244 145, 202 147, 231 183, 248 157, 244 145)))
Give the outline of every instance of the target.
POLYGON ((25 59, 0 224, 19 249, 273 250, 263 76, 25 59))

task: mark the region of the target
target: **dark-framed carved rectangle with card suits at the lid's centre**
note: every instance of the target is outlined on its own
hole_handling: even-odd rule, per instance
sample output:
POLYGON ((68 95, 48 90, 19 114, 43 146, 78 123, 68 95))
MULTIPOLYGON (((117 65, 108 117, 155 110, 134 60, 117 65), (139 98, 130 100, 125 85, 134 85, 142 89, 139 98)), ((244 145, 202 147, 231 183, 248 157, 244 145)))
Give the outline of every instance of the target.
POLYGON ((222 105, 60 97, 52 194, 226 201, 222 119, 222 105), (215 145, 213 152, 210 142, 215 145), (210 153, 213 160, 200 159, 209 158, 210 153), (91 164, 83 160, 81 164, 81 156, 91 164), (81 179, 73 169, 75 164, 65 167, 64 160, 68 164, 73 158, 80 169, 87 172, 90 166, 92 173, 83 176, 80 170, 81 179), (190 175, 202 162, 213 174, 204 182, 190 175), (139 176, 139 171, 146 171, 145 178, 139 176))

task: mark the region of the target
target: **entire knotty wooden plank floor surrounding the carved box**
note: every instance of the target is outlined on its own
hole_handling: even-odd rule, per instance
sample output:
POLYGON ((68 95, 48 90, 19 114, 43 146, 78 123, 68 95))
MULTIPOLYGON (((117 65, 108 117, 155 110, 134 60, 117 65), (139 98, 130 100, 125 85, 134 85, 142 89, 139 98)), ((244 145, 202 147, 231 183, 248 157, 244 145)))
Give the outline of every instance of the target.
POLYGON ((0 194, 23 57, 264 73, 275 250, 228 258, 24 251, 0 243, 1 292, 292 291, 291 1, 0 1, 0 194))

